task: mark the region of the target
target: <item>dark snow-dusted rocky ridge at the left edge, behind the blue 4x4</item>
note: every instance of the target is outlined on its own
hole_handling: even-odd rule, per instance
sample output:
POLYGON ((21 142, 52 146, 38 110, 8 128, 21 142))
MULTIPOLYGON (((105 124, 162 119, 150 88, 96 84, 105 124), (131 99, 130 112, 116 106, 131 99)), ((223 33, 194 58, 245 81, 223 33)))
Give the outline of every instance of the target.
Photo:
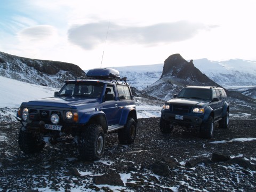
POLYGON ((65 80, 84 75, 84 71, 72 63, 28 59, 0 52, 0 76, 3 77, 59 88, 65 80))

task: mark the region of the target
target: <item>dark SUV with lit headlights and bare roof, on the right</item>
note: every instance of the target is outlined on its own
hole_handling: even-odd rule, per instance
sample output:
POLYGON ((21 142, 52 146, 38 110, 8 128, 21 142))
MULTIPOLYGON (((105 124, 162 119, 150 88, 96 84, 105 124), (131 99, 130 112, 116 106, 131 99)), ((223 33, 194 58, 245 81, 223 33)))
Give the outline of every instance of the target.
POLYGON ((227 129, 229 105, 224 89, 214 86, 186 86, 161 111, 160 130, 170 133, 173 125, 197 126, 203 138, 212 138, 214 123, 227 129))

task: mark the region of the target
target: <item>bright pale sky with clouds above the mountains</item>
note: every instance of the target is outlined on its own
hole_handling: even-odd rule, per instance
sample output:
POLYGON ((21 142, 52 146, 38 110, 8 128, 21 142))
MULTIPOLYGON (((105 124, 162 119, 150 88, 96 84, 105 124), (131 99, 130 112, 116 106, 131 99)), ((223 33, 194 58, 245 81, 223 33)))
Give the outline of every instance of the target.
POLYGON ((0 51, 81 69, 256 60, 254 0, 1 0, 0 51))

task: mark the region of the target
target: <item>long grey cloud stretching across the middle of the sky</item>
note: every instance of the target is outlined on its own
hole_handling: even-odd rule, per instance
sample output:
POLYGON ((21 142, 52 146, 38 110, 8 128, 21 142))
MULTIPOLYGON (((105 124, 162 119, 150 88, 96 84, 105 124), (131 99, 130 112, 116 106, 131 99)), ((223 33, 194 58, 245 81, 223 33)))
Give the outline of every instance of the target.
POLYGON ((105 42, 108 31, 107 41, 110 43, 138 43, 151 46, 159 43, 185 41, 194 37, 199 30, 211 30, 215 27, 218 26, 205 26, 201 23, 187 21, 158 23, 145 27, 127 27, 102 21, 72 26, 68 31, 68 38, 70 42, 83 47, 83 49, 91 50, 105 42))

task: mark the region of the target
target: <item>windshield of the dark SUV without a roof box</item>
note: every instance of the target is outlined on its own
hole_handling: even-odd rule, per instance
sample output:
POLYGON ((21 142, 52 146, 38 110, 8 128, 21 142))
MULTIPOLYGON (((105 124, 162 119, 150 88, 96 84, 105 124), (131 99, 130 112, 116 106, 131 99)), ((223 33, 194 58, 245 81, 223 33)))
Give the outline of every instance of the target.
POLYGON ((179 92, 179 94, 177 95, 177 98, 210 100, 211 90, 184 88, 179 92))

